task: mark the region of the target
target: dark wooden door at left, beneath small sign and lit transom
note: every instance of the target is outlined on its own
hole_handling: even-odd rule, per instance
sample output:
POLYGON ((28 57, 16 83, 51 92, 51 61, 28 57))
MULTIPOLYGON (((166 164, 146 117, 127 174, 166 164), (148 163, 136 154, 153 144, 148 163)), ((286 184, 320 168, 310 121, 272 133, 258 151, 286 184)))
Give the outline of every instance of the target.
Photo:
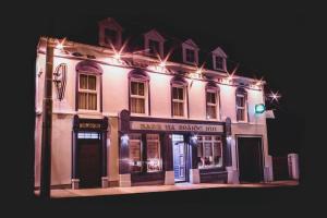
POLYGON ((97 187, 101 185, 100 141, 78 141, 78 175, 81 187, 97 187))

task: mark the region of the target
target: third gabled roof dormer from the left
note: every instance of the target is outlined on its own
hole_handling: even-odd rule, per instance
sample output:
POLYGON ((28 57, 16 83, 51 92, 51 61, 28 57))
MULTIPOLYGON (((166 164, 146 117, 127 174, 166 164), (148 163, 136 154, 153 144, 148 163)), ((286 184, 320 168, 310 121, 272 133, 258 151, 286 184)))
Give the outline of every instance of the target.
POLYGON ((198 50, 197 45, 191 38, 182 43, 183 62, 197 65, 198 50))

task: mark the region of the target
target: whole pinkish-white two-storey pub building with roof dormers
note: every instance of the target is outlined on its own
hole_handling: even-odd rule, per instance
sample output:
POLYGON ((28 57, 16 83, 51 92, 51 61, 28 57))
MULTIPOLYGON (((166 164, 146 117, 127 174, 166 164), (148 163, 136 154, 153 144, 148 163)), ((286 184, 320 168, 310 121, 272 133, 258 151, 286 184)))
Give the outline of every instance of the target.
MULTIPOLYGON (((99 46, 66 40, 53 51, 52 186, 272 181, 266 114, 256 112, 265 82, 230 76, 219 47, 199 66, 192 39, 169 44, 150 29, 124 44, 113 19, 98 25, 99 46)), ((60 39, 37 47, 36 187, 47 40, 60 39)))

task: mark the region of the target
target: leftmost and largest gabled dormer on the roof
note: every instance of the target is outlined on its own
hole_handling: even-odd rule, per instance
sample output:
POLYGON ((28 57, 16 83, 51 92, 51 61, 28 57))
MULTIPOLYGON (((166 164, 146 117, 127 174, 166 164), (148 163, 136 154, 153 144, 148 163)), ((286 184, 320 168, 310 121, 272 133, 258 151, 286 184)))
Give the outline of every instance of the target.
POLYGON ((105 19, 99 23, 99 45, 111 48, 110 44, 114 48, 121 47, 121 35, 123 28, 117 21, 111 17, 105 19))

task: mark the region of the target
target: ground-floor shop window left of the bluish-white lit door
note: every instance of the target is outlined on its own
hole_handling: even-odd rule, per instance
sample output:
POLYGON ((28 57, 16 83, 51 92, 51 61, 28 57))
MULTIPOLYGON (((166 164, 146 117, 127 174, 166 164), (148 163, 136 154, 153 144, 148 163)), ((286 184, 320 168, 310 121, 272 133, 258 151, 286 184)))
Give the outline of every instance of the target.
POLYGON ((130 134, 129 146, 132 172, 162 170, 159 134, 130 134))

